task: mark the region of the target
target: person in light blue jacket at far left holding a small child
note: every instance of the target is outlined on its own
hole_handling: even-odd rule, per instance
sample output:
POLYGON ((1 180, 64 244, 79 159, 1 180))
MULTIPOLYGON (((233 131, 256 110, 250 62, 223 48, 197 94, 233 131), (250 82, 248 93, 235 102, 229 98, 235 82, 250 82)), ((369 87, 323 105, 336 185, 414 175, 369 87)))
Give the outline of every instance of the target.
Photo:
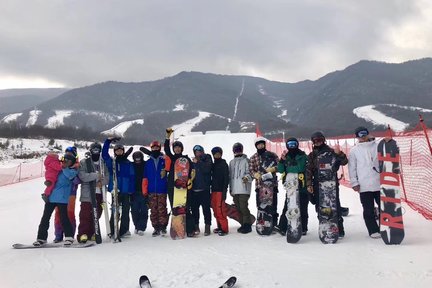
POLYGON ((78 171, 72 168, 75 162, 76 158, 73 155, 65 154, 63 156, 62 170, 58 175, 51 195, 48 197, 48 201, 45 202, 44 212, 38 228, 37 240, 33 243, 34 246, 42 246, 47 243, 50 219, 56 207, 60 212, 60 222, 65 234, 64 246, 70 246, 74 241, 74 232, 68 217, 67 205, 72 191, 72 181, 78 175, 78 171))

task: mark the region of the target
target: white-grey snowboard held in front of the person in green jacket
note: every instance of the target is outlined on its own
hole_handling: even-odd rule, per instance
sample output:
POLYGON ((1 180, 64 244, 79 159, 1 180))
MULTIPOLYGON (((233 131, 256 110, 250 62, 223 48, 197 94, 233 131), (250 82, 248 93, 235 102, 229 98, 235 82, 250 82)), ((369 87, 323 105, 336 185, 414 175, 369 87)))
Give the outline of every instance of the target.
POLYGON ((287 242, 297 243, 302 236, 302 223, 300 218, 300 194, 298 173, 287 173, 284 183, 286 191, 285 214, 287 219, 287 242))

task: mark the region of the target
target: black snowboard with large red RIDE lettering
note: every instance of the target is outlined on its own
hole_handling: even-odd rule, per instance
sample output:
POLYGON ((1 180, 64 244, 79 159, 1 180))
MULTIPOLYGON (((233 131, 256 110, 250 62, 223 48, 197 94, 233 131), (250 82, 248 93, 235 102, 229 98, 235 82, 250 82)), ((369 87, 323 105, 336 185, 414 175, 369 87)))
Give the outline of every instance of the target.
POLYGON ((395 140, 378 144, 380 171, 380 232, 385 244, 400 244, 405 236, 402 219, 399 147, 395 140))

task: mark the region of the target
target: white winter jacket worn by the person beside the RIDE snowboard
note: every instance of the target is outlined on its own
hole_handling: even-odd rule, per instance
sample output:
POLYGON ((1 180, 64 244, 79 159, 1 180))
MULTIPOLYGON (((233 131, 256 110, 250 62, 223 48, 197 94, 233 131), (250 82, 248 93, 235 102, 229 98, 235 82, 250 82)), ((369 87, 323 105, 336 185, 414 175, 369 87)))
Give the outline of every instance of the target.
POLYGON ((360 185, 360 192, 380 190, 377 146, 375 141, 360 142, 350 151, 348 169, 351 187, 360 185))

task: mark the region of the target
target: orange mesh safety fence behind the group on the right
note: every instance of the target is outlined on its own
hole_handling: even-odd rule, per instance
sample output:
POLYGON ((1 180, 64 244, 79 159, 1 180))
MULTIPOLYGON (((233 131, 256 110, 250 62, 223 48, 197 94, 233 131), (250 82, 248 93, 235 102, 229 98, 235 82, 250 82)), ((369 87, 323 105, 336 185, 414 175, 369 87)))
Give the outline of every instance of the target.
MULTIPOLYGON (((378 140, 386 136, 386 131, 373 132, 378 140)), ((432 130, 428 129, 420 117, 418 125, 407 132, 393 132, 400 151, 402 200, 412 209, 422 214, 426 219, 432 220, 432 130)), ((351 148, 356 144, 354 135, 344 135, 327 139, 327 144, 340 149, 349 156, 351 148)), ((299 148, 307 154, 312 149, 311 141, 300 141, 299 148)), ((281 140, 267 142, 267 149, 279 156, 286 150, 281 140)), ((348 165, 342 166, 338 172, 340 183, 351 187, 348 174, 348 165)))

